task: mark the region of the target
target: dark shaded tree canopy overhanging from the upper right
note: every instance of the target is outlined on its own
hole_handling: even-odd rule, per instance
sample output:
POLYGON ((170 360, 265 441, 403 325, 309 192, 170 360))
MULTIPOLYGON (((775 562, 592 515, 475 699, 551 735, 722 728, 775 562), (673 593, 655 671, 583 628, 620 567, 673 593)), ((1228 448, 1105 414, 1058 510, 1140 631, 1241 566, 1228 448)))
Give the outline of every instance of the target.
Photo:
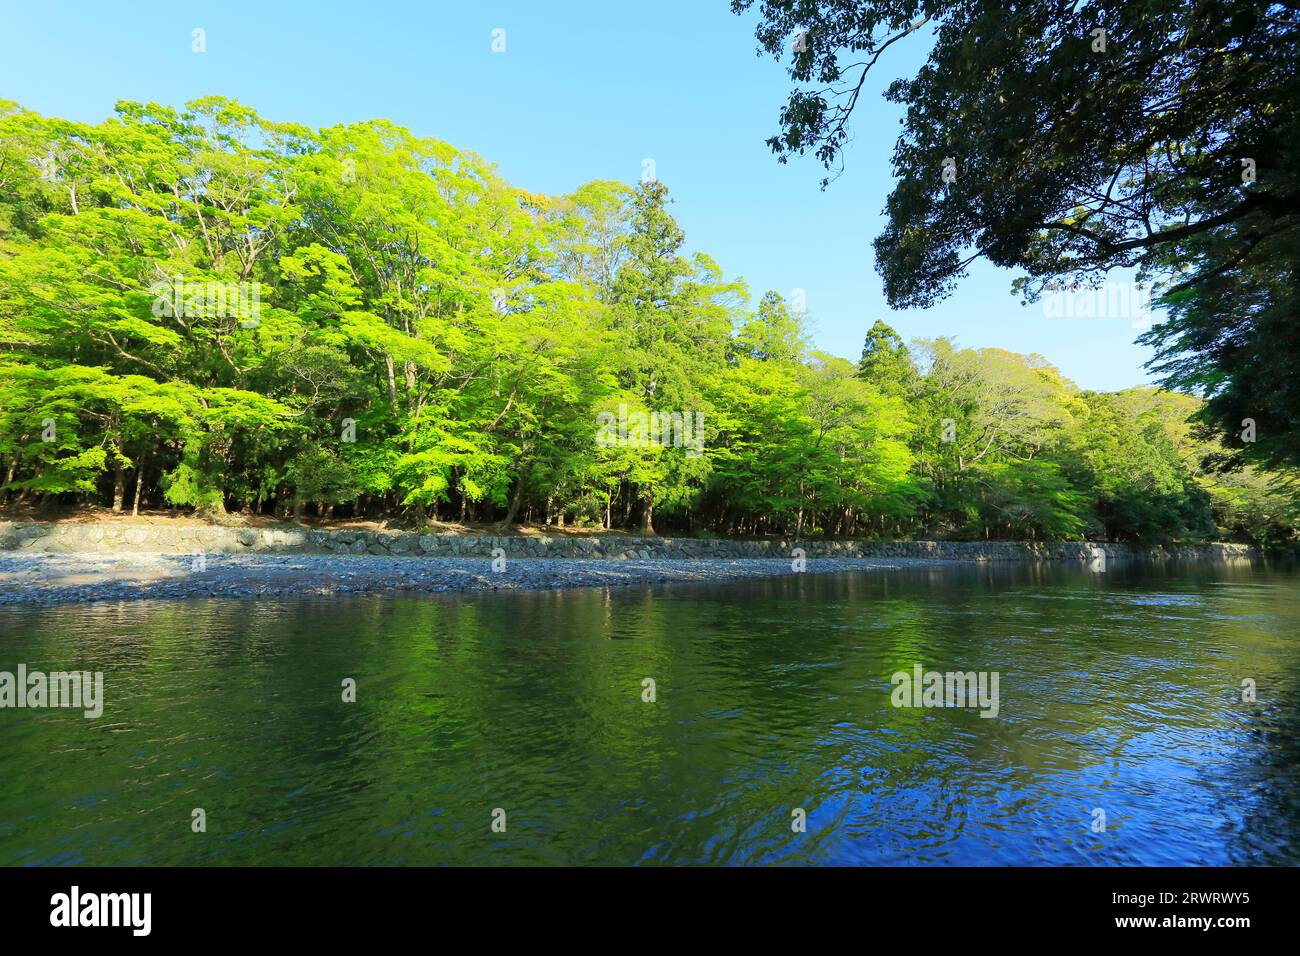
POLYGON ((768 144, 828 183, 864 81, 904 109, 876 268, 894 307, 952 294, 979 258, 1034 299, 1134 271, 1169 308, 1144 341, 1240 460, 1300 464, 1300 10, 1271 0, 733 0, 793 90, 768 144), (794 38, 794 39, 792 39, 794 38), (948 174, 945 176, 945 166, 948 174), (1240 434, 1244 419, 1252 438, 1240 434))

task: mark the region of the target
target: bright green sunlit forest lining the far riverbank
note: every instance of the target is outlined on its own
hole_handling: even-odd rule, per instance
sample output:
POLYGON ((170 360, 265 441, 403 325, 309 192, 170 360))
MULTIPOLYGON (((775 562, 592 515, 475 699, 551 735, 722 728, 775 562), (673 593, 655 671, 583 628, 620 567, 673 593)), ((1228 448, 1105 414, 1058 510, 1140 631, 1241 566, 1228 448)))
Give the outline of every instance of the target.
POLYGON ((0 100, 0 503, 1296 540, 1288 473, 1190 420, 1191 392, 1089 392, 876 316, 861 358, 824 354, 671 206, 654 179, 530 194, 382 120, 0 100))

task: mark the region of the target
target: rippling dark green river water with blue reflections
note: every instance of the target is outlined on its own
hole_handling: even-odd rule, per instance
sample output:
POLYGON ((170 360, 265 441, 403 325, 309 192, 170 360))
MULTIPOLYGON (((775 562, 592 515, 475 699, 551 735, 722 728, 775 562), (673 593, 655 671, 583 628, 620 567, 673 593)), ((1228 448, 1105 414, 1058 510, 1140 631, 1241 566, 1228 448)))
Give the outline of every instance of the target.
POLYGON ((0 670, 105 692, 99 719, 0 709, 0 864, 1294 865, 1297 584, 989 566, 0 609, 0 670), (916 663, 996 671, 997 718, 894 708, 916 663))

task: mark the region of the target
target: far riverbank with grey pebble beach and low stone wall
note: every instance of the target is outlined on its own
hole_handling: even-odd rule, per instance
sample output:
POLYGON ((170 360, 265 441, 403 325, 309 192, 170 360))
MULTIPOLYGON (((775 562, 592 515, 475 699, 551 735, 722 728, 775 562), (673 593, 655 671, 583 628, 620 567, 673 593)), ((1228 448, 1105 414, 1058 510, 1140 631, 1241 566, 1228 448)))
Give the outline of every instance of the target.
POLYGON ((150 523, 0 523, 0 606, 367 592, 537 591, 723 581, 959 563, 1248 561, 1216 544, 1086 541, 744 541, 226 528, 150 523))

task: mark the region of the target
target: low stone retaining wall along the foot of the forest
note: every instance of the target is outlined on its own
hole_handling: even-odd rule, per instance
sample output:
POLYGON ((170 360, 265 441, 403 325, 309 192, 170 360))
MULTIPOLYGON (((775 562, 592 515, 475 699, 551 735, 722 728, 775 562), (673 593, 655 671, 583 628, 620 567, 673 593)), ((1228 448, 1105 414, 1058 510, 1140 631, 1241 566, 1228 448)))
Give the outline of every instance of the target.
POLYGON ((794 541, 693 537, 420 535, 400 531, 318 531, 294 525, 228 528, 146 522, 0 522, 0 550, 389 554, 399 557, 490 558, 500 548, 511 558, 789 558, 802 548, 809 558, 946 558, 954 561, 1086 561, 1249 558, 1249 545, 1210 544, 1171 548, 1061 541, 794 541))

